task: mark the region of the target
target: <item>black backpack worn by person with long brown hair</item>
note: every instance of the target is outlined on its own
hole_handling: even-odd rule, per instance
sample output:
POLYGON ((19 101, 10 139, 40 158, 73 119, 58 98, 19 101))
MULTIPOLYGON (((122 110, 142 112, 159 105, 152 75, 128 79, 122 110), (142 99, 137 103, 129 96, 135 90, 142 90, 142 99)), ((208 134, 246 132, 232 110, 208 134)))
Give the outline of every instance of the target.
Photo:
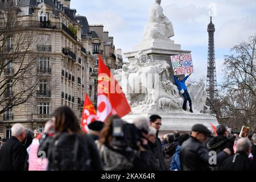
POLYGON ((88 171, 90 158, 85 136, 61 133, 49 147, 49 169, 53 171, 88 171))

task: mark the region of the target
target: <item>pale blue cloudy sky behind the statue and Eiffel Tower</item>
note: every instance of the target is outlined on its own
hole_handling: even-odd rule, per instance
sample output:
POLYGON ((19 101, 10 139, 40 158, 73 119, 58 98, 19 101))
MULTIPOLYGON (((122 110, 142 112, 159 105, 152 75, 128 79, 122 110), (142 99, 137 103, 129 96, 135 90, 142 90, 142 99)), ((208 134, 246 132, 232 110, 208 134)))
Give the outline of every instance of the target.
MULTIPOLYGON (((133 49, 142 40, 148 10, 154 0, 72 0, 71 8, 89 24, 104 24, 116 48, 133 49)), ((209 7, 213 9, 217 81, 221 81, 224 55, 236 44, 256 34, 255 0, 162 0, 164 14, 174 26, 176 44, 191 50, 196 79, 207 75, 209 7)))

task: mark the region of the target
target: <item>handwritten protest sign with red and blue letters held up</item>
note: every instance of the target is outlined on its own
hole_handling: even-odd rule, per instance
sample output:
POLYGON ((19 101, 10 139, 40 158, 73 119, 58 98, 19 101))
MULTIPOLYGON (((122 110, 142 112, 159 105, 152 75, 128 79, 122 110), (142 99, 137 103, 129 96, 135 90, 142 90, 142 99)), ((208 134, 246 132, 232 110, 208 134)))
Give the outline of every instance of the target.
POLYGON ((185 75, 194 72, 191 54, 171 56, 174 75, 185 75))

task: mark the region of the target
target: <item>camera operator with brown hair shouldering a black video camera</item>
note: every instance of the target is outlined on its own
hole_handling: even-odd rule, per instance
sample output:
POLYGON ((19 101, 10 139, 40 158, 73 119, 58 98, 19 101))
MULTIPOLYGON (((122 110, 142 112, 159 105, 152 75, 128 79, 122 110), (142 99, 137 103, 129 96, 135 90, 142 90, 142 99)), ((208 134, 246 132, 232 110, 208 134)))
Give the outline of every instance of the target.
MULTIPOLYGON (((121 122, 121 118, 118 115, 110 115, 106 118, 105 126, 101 130, 101 137, 96 141, 98 151, 100 152, 100 159, 103 162, 105 171, 127 171, 134 168, 134 160, 137 157, 135 150, 127 150, 127 143, 131 143, 126 141, 124 138, 120 137, 120 140, 114 137, 113 127, 114 121, 119 121, 120 124, 125 125, 124 122, 121 122), (123 140, 122 140, 123 139, 123 140), (118 146, 119 145, 119 146, 118 146), (125 145, 125 146, 122 146, 125 145)), ((135 127, 135 126, 134 126, 135 127)), ((118 127, 120 129, 120 127, 118 127)), ((123 133, 122 130, 117 130, 118 133, 122 133, 121 135, 135 135, 137 131, 133 130, 134 133, 123 133)), ((130 138, 129 137, 129 138, 130 138)), ((126 138, 127 139, 127 138, 126 138)))

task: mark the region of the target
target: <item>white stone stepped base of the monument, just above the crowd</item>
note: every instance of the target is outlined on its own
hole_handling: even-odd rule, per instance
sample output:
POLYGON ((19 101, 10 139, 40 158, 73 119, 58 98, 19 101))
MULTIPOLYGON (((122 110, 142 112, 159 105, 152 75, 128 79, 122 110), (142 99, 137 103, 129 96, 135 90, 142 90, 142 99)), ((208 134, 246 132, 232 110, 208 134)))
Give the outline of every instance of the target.
POLYGON ((196 124, 203 124, 206 127, 211 127, 210 123, 218 126, 217 119, 209 114, 189 113, 188 111, 175 111, 175 112, 157 112, 157 113, 132 113, 123 117, 129 123, 137 117, 150 117, 152 114, 158 114, 162 117, 162 126, 159 134, 162 136, 166 133, 178 130, 184 133, 190 133, 192 126, 196 124))

